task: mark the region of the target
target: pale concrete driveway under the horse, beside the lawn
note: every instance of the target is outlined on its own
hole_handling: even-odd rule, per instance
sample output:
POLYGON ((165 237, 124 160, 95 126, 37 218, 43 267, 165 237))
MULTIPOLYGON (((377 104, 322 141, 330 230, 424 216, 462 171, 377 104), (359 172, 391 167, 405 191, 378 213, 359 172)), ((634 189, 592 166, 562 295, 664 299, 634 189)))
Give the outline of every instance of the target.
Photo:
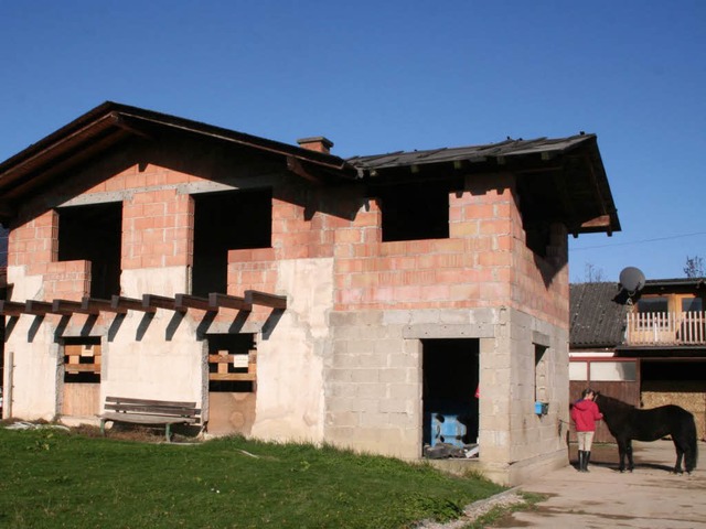
MULTIPOLYGON (((605 449, 603 449, 605 450, 605 449)), ((591 462, 589 473, 568 466, 518 487, 548 495, 536 510, 507 515, 503 528, 706 528, 706 445, 692 475, 675 475, 671 441, 633 442, 635 469, 617 471, 618 449, 591 462)), ((591 454, 593 456, 593 454, 591 454)), ((592 457, 593 458, 593 457, 592 457)))

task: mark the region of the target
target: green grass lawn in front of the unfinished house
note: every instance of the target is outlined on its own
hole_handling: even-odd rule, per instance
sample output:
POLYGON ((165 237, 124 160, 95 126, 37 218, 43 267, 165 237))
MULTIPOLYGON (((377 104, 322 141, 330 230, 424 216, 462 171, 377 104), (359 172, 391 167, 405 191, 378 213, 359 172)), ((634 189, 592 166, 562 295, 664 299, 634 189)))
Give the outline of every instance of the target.
POLYGON ((404 528, 501 490, 332 447, 0 428, 3 528, 404 528))

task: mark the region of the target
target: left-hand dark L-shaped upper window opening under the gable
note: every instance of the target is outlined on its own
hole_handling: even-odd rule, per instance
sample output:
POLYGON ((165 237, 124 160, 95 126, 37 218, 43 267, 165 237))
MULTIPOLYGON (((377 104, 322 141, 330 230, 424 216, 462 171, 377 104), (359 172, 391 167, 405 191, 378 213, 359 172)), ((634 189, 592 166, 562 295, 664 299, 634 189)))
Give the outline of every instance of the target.
POLYGON ((120 293, 122 203, 58 209, 58 260, 90 261, 90 295, 120 293))

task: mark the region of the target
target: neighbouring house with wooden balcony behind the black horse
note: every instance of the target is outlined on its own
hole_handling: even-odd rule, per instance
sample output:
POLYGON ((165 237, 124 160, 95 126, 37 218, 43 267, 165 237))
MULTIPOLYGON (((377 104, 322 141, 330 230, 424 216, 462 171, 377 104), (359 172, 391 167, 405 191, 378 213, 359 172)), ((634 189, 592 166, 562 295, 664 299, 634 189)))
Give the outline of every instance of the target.
MULTIPOLYGON (((630 296, 617 283, 571 284, 570 398, 586 386, 631 404, 678 404, 706 438, 706 283, 648 280, 630 296)), ((612 441, 605 425, 598 441, 612 441)))

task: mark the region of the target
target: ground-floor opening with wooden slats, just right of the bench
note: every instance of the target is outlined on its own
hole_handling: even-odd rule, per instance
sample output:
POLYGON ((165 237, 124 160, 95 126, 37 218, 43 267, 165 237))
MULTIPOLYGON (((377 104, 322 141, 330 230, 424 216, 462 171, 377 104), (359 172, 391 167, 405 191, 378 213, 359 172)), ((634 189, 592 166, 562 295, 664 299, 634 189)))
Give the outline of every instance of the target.
POLYGON ((208 391, 254 392, 257 349, 254 334, 210 334, 208 391))

